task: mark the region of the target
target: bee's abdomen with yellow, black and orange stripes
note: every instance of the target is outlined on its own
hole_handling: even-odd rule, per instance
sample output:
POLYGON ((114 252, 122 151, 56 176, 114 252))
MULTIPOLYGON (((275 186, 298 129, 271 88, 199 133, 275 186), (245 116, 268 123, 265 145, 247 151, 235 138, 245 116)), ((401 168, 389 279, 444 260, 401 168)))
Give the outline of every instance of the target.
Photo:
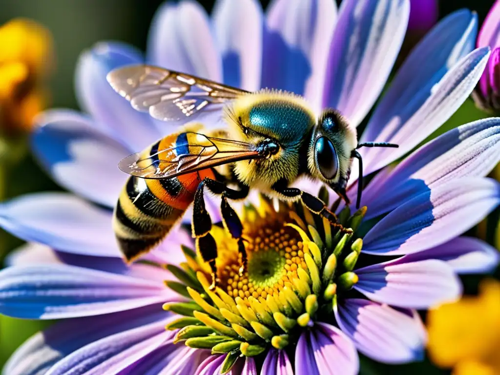
MULTIPOLYGON (((144 153, 153 158, 158 149, 176 143, 183 145, 185 137, 182 134, 168 135, 144 153)), ((162 155, 162 159, 173 158, 177 152, 162 155)), ((168 234, 193 201, 196 188, 205 176, 213 178, 213 172, 208 169, 163 179, 128 178, 113 215, 116 239, 127 261, 149 251, 168 234)))

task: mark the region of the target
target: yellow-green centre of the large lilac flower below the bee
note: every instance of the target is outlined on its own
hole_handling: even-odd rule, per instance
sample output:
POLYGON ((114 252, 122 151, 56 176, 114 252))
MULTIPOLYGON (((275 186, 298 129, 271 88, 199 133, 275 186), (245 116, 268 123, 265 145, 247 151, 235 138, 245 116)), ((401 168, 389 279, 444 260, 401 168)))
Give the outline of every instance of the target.
MULTIPOLYGON (((339 220, 355 230, 365 208, 352 216, 347 210, 339 220)), ((262 198, 258 207, 245 207, 242 224, 248 266, 241 276, 237 242, 216 226, 211 233, 220 282, 214 290, 210 269, 192 250, 184 248, 182 269, 167 266, 180 282, 166 284, 191 299, 164 305, 185 316, 167 329, 181 328, 176 342, 229 353, 223 366, 227 371, 234 355, 287 348, 314 321, 331 320, 338 293, 357 282, 353 269, 362 245, 361 239, 352 240, 353 233, 339 231, 298 203, 280 203, 276 210, 262 198)))

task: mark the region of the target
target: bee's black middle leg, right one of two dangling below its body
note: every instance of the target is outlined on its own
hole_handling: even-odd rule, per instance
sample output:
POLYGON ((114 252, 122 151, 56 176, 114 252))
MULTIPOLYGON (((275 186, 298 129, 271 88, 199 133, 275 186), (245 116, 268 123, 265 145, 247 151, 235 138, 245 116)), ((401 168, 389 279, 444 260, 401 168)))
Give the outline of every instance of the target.
POLYGON ((206 187, 210 189, 215 194, 222 195, 222 201, 220 203, 220 213, 222 214, 222 220, 224 227, 229 231, 231 236, 237 240, 238 252, 241 254, 241 267, 239 267, 239 275, 241 276, 244 271, 246 271, 247 257, 245 245, 243 243, 243 225, 239 219, 236 211, 229 205, 227 198, 229 199, 242 199, 248 195, 248 186, 242 185, 239 190, 234 190, 227 187, 223 182, 215 181, 213 179, 206 179, 206 187))

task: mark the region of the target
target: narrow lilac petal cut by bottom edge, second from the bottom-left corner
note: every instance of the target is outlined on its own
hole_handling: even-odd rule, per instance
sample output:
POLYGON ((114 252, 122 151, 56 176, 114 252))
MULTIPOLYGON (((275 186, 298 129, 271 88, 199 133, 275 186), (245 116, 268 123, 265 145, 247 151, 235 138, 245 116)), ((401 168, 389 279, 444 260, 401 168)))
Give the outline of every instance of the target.
POLYGON ((166 320, 93 341, 55 363, 47 375, 116 373, 172 338, 174 333, 165 330, 166 320))

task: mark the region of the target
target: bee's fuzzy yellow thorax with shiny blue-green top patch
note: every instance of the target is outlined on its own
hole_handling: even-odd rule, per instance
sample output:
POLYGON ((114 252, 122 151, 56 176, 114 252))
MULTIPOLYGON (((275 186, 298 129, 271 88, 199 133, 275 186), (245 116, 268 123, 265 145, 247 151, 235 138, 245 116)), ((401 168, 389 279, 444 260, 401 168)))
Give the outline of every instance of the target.
POLYGON ((279 144, 279 151, 267 159, 236 162, 240 181, 268 192, 280 179, 295 180, 303 157, 300 148, 315 123, 302 97, 276 90, 243 95, 226 108, 225 121, 233 139, 255 145, 273 139, 279 144))

